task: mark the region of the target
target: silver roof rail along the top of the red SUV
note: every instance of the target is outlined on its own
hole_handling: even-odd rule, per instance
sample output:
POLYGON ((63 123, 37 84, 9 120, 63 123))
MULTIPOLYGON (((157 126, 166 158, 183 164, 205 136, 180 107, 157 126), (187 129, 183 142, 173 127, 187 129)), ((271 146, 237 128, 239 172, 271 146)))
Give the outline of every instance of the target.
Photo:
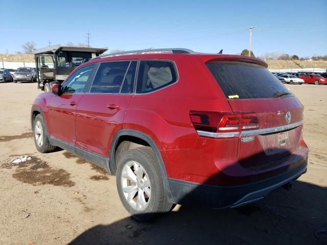
POLYGON ((142 54, 195 54, 194 51, 188 50, 187 48, 151 48, 149 50, 133 50, 133 51, 124 51, 119 53, 104 54, 98 57, 93 58, 101 59, 106 57, 114 57, 121 55, 142 55, 142 54))

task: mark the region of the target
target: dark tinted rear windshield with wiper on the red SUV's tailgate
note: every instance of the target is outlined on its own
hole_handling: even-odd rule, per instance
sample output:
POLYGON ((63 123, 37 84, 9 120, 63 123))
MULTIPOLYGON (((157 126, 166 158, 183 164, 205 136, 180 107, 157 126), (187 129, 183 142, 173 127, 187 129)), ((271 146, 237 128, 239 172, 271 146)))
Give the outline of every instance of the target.
MULTIPOLYGON (((244 62, 209 62, 207 67, 227 99, 267 99, 290 91, 271 72, 244 62)), ((283 97, 294 96, 283 94, 283 97)))

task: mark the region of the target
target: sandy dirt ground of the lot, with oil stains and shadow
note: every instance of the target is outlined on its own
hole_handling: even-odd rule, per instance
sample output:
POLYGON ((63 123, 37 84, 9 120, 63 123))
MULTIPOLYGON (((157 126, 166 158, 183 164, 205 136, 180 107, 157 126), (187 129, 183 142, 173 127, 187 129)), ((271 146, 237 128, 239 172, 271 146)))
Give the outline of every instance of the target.
POLYGON ((327 244, 327 86, 287 85, 305 105, 308 173, 290 191, 237 209, 176 206, 132 220, 115 178, 66 151, 38 153, 30 108, 36 84, 0 84, 1 244, 327 244), (30 156, 21 164, 11 159, 30 156))

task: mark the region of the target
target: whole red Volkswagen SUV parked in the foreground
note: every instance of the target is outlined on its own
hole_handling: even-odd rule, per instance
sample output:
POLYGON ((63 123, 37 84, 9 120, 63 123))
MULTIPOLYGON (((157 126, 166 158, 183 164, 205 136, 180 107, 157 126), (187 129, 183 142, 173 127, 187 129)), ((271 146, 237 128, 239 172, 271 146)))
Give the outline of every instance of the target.
POLYGON ((31 111, 38 151, 59 146, 116 176, 139 220, 173 204, 237 207, 307 170, 303 107, 259 59, 184 49, 78 66, 31 111))

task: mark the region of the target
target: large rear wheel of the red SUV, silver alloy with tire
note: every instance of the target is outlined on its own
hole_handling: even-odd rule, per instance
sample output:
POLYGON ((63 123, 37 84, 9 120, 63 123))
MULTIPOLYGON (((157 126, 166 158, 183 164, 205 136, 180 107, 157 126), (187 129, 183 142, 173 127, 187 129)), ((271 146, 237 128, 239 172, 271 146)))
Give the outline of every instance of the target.
POLYGON ((118 162, 116 176, 119 197, 134 219, 150 221, 172 209, 173 204, 167 200, 159 164, 149 146, 125 152, 118 162))

